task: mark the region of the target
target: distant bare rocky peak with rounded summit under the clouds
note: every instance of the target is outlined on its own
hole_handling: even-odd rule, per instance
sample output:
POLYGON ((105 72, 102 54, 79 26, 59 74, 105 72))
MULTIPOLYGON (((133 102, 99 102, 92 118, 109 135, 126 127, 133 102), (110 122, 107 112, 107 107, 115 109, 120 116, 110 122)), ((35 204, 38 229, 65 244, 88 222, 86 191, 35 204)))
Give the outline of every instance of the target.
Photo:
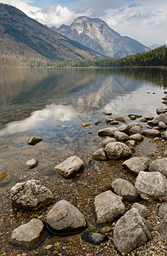
POLYGON ((51 29, 109 57, 122 58, 149 50, 135 39, 121 36, 101 19, 82 16, 75 19, 71 26, 52 26, 51 29))

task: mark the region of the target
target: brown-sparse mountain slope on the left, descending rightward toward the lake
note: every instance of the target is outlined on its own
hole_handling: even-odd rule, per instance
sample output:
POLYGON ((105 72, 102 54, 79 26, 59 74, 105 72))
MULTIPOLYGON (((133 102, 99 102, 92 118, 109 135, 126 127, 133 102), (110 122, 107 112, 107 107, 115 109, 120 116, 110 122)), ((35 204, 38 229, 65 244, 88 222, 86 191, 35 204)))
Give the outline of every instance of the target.
POLYGON ((9 57, 52 61, 101 58, 95 51, 53 32, 19 9, 3 3, 0 3, 0 55, 3 61, 9 57))

